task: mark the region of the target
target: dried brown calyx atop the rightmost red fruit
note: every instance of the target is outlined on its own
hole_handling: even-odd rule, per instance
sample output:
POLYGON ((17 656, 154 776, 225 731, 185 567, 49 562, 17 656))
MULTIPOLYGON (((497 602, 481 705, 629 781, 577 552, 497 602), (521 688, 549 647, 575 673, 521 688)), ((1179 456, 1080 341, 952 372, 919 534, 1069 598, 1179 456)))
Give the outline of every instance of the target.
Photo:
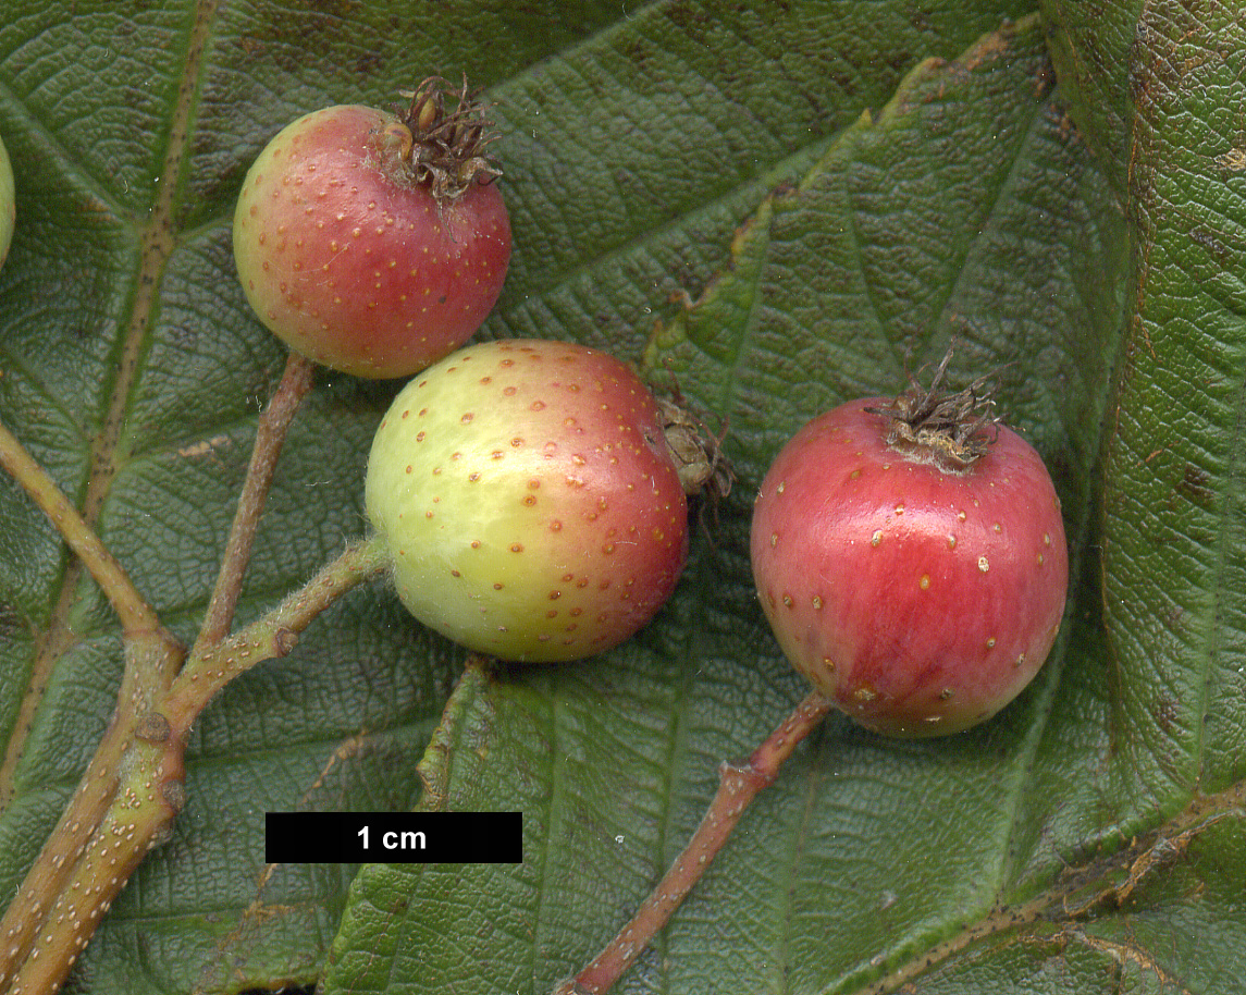
POLYGON ((994 378, 979 377, 954 393, 943 389, 952 347, 928 388, 913 374, 910 387, 885 408, 866 408, 888 419, 887 445, 906 458, 932 463, 944 473, 964 473, 986 455, 997 436, 994 378))

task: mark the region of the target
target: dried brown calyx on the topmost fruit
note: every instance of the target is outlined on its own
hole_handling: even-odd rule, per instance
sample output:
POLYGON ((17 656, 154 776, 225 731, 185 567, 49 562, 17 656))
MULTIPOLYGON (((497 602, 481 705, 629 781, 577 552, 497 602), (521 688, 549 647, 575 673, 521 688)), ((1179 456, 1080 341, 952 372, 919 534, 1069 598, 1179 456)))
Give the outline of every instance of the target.
MULTIPOLYGON (((472 183, 491 183, 502 175, 485 150, 497 137, 487 133, 492 121, 483 117, 480 90, 462 87, 450 97, 440 76, 430 76, 416 87, 409 106, 397 117, 409 135, 399 135, 402 160, 417 183, 426 183, 439 204, 447 204, 466 193, 472 183)), ((395 130, 397 126, 394 126, 395 130)))

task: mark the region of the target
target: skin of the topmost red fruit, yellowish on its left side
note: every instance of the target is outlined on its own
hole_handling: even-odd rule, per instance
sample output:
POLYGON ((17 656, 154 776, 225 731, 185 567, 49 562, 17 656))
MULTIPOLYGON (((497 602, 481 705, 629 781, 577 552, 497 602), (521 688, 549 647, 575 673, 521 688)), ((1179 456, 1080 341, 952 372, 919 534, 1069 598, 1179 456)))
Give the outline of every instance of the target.
POLYGON ((371 107, 313 111, 260 152, 234 211, 238 276, 260 320, 356 377, 406 377, 459 348, 511 258, 497 186, 439 208, 410 177, 401 133, 371 107))

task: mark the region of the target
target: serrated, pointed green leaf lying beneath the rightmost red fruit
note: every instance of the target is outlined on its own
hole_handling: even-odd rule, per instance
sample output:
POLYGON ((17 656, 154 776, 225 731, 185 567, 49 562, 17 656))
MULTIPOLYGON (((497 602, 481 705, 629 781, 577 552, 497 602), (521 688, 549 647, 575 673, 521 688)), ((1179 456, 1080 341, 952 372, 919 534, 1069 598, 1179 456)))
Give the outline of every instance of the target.
MULTIPOLYGON (((1172 892, 1148 890, 1156 868, 1210 840, 1215 819, 1240 820, 1241 793, 1204 809, 1185 782, 1156 798, 1175 743, 1115 722, 1094 509, 1131 243, 1050 84, 1033 22, 920 65, 763 203, 729 267, 659 328, 649 365, 730 425, 736 494, 658 631, 587 673, 508 672, 456 702, 457 722, 491 736, 451 771, 449 805, 522 809, 526 862, 365 868, 330 991, 548 991, 611 938, 695 828, 714 762, 745 754, 802 693, 759 648, 748 597, 749 499, 769 459, 830 404, 901 385, 952 335, 966 377, 1008 364, 1007 418, 1057 473, 1083 580, 1055 658, 999 719, 952 741, 829 719, 619 989, 1082 991, 1113 971, 1186 976, 1191 958, 1129 936, 1134 909, 1184 914, 1172 892), (1174 843, 1159 813, 1181 809, 1164 829, 1174 843), (1123 832, 1139 837, 1123 847, 1123 832)), ((1236 915, 1217 924, 1230 961, 1236 915)))

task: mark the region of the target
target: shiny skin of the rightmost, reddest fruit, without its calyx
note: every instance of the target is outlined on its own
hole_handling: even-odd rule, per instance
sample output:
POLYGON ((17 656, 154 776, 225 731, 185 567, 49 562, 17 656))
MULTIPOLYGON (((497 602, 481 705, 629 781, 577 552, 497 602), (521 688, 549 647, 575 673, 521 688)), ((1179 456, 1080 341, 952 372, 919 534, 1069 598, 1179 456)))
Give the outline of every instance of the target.
POLYGON ((1034 449, 999 426, 963 473, 886 443, 850 401, 779 454, 758 494, 753 571, 797 671, 862 726, 926 737, 974 726, 1047 660, 1069 567, 1034 449))

